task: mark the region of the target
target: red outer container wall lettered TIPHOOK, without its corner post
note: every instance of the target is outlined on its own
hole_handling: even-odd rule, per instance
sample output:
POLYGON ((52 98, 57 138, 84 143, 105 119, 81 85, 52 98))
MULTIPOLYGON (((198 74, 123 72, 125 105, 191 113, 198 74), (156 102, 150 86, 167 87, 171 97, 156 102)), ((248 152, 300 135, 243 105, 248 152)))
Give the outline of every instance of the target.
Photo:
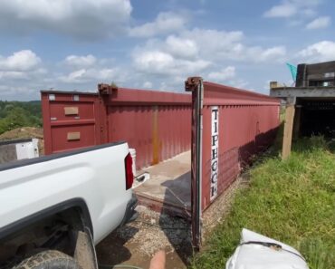
POLYGON ((204 82, 203 105, 202 205, 205 209, 256 153, 273 143, 279 126, 280 102, 255 92, 204 82), (215 157, 217 184, 212 182, 215 157))

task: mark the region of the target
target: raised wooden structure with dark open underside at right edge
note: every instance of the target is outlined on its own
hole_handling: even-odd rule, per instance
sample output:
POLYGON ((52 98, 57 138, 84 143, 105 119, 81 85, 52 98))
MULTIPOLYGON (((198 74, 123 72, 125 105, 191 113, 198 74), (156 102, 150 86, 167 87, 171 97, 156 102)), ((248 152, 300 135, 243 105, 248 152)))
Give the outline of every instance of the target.
POLYGON ((335 138, 335 61, 298 65, 295 87, 271 82, 271 96, 286 101, 282 158, 289 156, 292 137, 335 138))

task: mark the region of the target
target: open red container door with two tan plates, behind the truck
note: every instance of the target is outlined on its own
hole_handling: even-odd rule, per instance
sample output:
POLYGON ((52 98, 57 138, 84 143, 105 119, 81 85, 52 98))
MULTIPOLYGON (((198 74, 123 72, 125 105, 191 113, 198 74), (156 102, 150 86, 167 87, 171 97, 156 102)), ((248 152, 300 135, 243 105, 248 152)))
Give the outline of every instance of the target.
POLYGON ((97 94, 42 91, 44 153, 101 144, 97 94))

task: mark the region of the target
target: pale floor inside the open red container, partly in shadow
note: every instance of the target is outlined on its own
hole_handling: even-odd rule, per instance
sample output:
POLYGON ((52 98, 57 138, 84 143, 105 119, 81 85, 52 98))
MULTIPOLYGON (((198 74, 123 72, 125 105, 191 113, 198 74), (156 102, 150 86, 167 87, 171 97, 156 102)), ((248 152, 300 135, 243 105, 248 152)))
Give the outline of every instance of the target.
POLYGON ((191 152, 144 168, 150 179, 135 188, 139 203, 155 211, 189 216, 191 208, 191 152), (169 212, 170 211, 170 212, 169 212))

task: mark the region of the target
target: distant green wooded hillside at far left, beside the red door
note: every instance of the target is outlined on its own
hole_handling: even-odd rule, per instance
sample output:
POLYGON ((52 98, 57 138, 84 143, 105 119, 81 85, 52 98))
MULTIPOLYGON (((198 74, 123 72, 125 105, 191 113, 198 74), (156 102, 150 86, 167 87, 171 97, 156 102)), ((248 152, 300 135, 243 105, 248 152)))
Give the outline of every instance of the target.
POLYGON ((41 102, 0 101, 0 134, 24 126, 42 126, 41 102))

